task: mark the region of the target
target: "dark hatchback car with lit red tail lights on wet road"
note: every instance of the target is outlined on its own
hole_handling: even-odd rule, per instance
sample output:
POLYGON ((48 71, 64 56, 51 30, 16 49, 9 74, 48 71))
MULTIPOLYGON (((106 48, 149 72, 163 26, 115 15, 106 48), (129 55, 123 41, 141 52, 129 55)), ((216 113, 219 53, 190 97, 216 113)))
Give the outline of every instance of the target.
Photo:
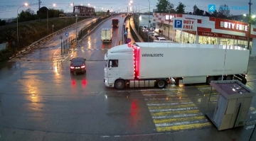
POLYGON ((76 57, 70 60, 70 73, 86 73, 85 58, 76 57))

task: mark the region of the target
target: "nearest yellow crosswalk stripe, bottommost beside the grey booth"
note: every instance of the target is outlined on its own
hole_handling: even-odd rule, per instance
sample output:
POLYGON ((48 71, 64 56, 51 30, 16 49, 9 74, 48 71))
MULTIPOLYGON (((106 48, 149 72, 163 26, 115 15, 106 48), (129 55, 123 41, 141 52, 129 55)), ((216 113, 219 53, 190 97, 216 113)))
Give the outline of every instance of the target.
POLYGON ((209 127, 211 125, 212 125, 211 123, 194 123, 194 124, 177 125, 177 126, 170 126, 170 127, 157 127, 156 130, 158 132, 190 130, 190 129, 196 129, 196 128, 206 128, 206 127, 209 127))

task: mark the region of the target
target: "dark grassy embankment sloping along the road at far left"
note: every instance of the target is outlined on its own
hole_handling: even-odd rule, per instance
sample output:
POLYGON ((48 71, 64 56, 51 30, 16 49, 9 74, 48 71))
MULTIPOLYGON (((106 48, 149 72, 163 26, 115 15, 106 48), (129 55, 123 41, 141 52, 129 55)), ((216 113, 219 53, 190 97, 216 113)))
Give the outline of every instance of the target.
MULTIPOLYGON (((78 18, 82 21, 85 18, 78 18)), ((39 21, 31 21, 26 23, 18 23, 18 43, 17 43, 17 26, 0 27, 0 43, 8 43, 7 50, 0 51, 0 62, 8 60, 18 50, 31 45, 31 43, 50 35, 51 33, 63 29, 75 23, 75 18, 52 18, 48 20, 48 31, 46 19, 39 21), (54 25, 54 28, 52 27, 54 25), (12 43, 15 43, 13 46, 12 43)))

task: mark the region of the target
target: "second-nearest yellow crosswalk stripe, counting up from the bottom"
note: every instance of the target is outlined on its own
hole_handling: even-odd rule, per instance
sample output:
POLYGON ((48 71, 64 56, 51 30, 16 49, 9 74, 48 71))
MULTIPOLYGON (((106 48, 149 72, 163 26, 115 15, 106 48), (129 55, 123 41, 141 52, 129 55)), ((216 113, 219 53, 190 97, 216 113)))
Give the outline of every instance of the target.
POLYGON ((174 123, 174 122, 181 122, 181 121, 191 121, 191 120, 203 120, 206 119, 206 116, 192 116, 192 117, 185 117, 185 118, 167 118, 167 119, 154 119, 155 124, 159 123, 174 123))

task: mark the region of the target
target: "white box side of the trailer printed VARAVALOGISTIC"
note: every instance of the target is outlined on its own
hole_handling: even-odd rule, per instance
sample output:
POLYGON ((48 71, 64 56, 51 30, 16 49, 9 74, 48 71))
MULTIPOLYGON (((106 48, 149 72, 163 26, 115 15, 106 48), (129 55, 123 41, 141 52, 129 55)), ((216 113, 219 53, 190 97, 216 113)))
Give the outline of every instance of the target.
POLYGON ((139 78, 200 77, 246 74, 250 51, 242 47, 169 43, 140 47, 139 78), (226 54, 226 55, 225 55, 226 54))

